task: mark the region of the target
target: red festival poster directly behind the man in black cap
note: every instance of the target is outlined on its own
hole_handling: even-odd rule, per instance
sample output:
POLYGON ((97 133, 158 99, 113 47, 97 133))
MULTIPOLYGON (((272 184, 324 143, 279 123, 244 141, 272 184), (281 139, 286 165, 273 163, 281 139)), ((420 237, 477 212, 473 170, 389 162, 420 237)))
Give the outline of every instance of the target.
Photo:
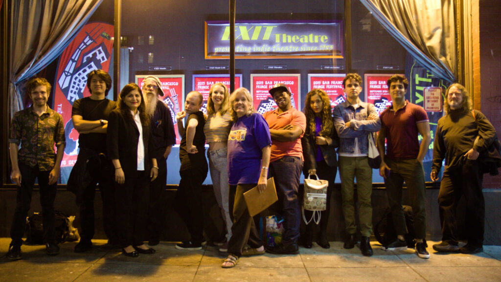
POLYGON ((277 104, 268 92, 277 83, 287 85, 291 91, 291 104, 294 108, 301 110, 301 95, 299 93, 300 74, 251 74, 250 92, 254 98, 254 108, 257 112, 263 114, 277 108, 277 104))

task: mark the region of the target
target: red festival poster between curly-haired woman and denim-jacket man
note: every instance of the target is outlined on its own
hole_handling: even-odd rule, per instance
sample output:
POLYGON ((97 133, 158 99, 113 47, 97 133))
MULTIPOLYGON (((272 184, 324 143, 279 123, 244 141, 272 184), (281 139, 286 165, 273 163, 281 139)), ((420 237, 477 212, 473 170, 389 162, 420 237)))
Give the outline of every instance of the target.
POLYGON ((316 88, 324 90, 331 99, 331 106, 334 108, 346 101, 343 90, 344 78, 344 74, 309 74, 308 91, 316 88))

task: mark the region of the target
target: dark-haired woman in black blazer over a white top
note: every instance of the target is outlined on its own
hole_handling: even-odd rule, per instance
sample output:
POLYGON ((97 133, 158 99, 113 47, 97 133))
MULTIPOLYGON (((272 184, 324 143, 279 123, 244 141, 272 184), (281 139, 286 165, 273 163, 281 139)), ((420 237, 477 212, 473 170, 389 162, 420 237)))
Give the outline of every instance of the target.
POLYGON ((139 86, 125 85, 118 107, 110 113, 107 149, 115 167, 118 239, 122 253, 131 257, 155 253, 143 242, 148 182, 158 174, 156 159, 149 158, 154 156, 149 120, 139 86))

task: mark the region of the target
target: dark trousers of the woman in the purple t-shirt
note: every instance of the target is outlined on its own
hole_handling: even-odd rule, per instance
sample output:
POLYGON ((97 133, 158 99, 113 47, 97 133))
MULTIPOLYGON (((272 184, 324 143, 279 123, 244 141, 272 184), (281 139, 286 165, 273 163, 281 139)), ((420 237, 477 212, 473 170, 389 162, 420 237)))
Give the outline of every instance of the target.
MULTIPOLYGON (((252 248, 263 246, 263 240, 256 228, 255 221, 250 216, 243 193, 256 187, 257 184, 238 184, 229 186, 229 206, 232 209, 233 225, 231 238, 228 242, 228 253, 241 256, 243 248, 248 244, 252 248)), ((259 215, 257 216, 259 218, 259 215)))

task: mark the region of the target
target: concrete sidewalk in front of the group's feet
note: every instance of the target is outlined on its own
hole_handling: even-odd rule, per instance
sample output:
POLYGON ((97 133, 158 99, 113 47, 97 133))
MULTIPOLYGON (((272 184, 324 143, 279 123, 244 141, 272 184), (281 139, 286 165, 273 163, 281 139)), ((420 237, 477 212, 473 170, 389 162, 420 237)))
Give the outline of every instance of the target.
POLYGON ((357 247, 345 250, 342 242, 327 250, 314 243, 298 255, 242 257, 223 269, 224 257, 213 246, 182 251, 161 242, 156 254, 130 258, 106 240, 94 240, 87 253, 74 253, 76 242, 66 242, 57 256, 46 255, 45 246, 23 245, 24 258, 8 261, 10 241, 0 238, 0 281, 501 281, 501 246, 484 246, 475 255, 438 254, 429 241, 431 257, 422 259, 413 249, 383 251, 377 242, 372 257, 357 247))

